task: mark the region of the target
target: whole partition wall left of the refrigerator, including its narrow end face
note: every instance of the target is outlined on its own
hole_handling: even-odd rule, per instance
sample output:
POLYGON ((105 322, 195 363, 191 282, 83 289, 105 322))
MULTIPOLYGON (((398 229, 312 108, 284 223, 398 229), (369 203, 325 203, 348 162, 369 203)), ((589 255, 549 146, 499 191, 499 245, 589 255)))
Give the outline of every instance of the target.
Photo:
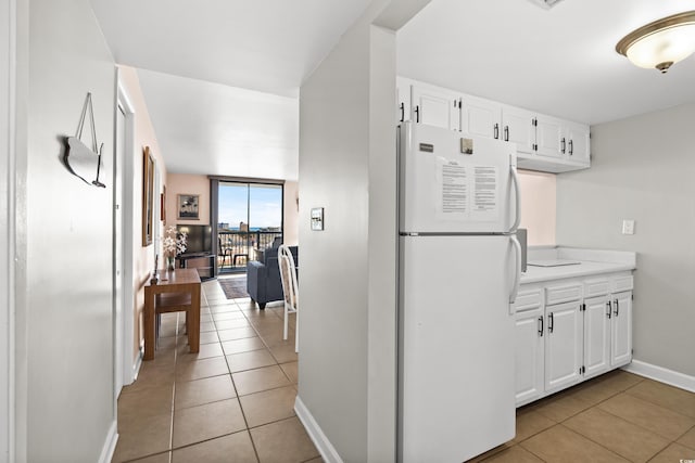
POLYGON ((426 3, 374 1, 300 91, 298 397, 346 462, 395 460, 393 29, 426 3))

